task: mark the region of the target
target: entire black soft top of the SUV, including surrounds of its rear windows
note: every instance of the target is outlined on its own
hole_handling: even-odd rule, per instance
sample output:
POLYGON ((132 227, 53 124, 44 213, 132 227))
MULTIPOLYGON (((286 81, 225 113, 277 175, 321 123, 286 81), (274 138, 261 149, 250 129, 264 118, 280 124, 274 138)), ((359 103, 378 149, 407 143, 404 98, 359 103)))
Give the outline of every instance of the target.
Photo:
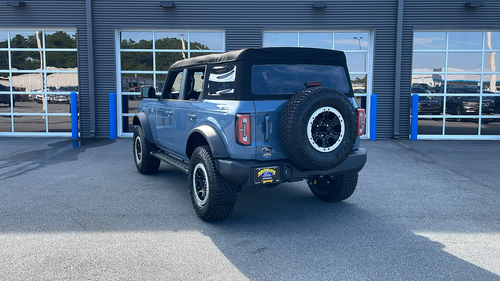
MULTIPOLYGON (((261 100, 261 99, 288 99, 289 94, 255 94, 252 92, 252 66, 269 64, 288 65, 332 65, 341 66, 345 70, 348 82, 348 90, 342 91, 346 96, 353 97, 354 91, 349 79, 347 62, 343 51, 306 48, 306 47, 267 47, 267 48, 245 48, 223 53, 207 54, 192 58, 186 58, 173 63, 170 69, 182 69, 195 65, 208 65, 208 69, 214 66, 235 66, 234 95, 218 96, 213 98, 236 99, 236 100, 261 100)), ((332 77, 335 79, 335 77, 332 77)), ((308 82, 308 81, 306 81, 308 82)))

